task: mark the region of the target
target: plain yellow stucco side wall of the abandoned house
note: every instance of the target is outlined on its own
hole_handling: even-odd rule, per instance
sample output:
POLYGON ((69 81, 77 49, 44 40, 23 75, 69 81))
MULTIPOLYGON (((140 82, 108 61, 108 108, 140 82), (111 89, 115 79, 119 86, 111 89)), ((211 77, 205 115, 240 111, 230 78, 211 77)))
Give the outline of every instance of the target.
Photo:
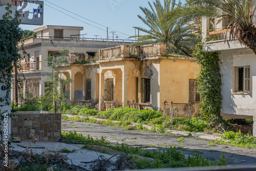
POLYGON ((196 79, 200 65, 189 59, 161 59, 160 108, 163 102, 188 103, 189 79, 196 79))

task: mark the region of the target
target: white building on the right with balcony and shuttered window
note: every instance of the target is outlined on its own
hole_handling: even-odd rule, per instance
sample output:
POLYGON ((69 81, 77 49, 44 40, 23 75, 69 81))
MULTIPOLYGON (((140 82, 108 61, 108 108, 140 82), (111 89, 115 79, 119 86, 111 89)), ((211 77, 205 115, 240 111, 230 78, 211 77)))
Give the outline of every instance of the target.
MULTIPOLYGON (((216 22, 217 23, 217 22, 216 22)), ((219 51, 222 88, 221 116, 224 119, 253 119, 253 135, 256 135, 256 55, 238 40, 227 42, 229 29, 223 29, 225 21, 209 30, 209 19, 202 23, 203 38, 208 51, 219 51)))

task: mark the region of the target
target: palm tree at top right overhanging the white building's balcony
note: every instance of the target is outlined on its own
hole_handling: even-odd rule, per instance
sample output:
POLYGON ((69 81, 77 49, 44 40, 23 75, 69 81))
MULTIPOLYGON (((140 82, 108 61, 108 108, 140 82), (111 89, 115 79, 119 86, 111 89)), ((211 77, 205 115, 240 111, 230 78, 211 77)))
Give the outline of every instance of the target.
POLYGON ((167 12, 161 21, 172 25, 197 17, 215 17, 218 22, 227 20, 226 28, 230 28, 228 40, 238 39, 256 54, 256 28, 253 25, 256 6, 253 6, 253 2, 254 0, 187 0, 186 6, 167 12))

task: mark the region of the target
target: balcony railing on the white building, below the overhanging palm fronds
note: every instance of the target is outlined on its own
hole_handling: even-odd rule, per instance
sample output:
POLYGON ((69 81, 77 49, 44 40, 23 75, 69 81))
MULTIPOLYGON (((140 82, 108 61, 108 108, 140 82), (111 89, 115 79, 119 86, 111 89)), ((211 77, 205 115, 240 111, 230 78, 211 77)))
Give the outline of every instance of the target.
POLYGON ((218 28, 209 30, 209 40, 221 40, 229 38, 230 29, 227 28, 218 28))

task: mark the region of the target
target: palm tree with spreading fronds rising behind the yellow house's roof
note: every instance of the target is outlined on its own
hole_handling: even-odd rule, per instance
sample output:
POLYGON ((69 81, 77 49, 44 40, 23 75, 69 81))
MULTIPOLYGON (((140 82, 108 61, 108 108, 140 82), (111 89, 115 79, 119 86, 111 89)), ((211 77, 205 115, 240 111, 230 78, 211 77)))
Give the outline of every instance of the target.
POLYGON ((191 32, 194 27, 182 22, 171 24, 160 22, 166 13, 180 8, 182 6, 181 1, 176 3, 176 0, 164 0, 164 6, 159 0, 153 2, 154 6, 150 2, 148 4, 150 9, 140 7, 145 17, 140 15, 138 17, 149 29, 135 27, 145 34, 132 37, 138 37, 138 44, 140 45, 163 42, 168 45, 172 53, 190 56, 193 47, 200 41, 198 35, 191 32))

